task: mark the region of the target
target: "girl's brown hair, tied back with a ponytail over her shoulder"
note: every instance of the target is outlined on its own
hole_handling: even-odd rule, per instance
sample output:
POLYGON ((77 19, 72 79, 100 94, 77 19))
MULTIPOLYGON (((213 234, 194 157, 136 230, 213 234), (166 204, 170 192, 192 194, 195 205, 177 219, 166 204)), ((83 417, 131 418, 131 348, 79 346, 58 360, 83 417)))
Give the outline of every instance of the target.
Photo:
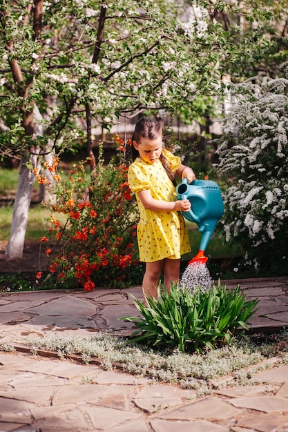
MULTIPOLYGON (((136 150, 136 148, 133 146, 133 141, 137 142, 137 144, 140 144, 141 138, 157 139, 160 135, 162 135, 162 132, 163 125, 161 121, 158 121, 153 117, 142 117, 140 120, 138 120, 135 125, 135 130, 132 137, 133 161, 136 159, 136 157, 139 156, 138 150, 136 150)), ((166 157, 161 153, 159 159, 164 166, 164 169, 166 170, 169 179, 171 179, 171 181, 174 183, 175 175, 173 174, 166 157)))

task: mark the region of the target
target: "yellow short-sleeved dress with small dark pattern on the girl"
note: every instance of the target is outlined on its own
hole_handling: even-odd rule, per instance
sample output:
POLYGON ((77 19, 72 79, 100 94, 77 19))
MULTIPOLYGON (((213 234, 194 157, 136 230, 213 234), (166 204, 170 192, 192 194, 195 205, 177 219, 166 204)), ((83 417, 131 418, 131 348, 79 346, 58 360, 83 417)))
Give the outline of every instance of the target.
MULTIPOLYGON (((173 173, 180 167, 181 159, 166 149, 162 150, 173 173)), ((190 252, 189 235, 180 212, 153 211, 144 208, 138 192, 151 190, 155 199, 166 202, 176 201, 177 195, 172 181, 158 159, 149 164, 137 157, 128 169, 128 184, 135 193, 140 211, 137 225, 137 240, 140 261, 155 262, 164 258, 179 259, 190 252)))

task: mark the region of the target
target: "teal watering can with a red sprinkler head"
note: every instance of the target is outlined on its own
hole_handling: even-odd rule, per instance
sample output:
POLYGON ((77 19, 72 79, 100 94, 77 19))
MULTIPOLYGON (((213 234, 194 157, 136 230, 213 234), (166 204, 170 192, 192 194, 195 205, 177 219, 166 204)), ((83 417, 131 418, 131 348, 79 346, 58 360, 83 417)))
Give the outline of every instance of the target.
POLYGON ((224 214, 220 187, 211 180, 196 179, 188 184, 188 180, 184 178, 176 192, 177 199, 189 199, 191 202, 191 209, 181 213, 190 222, 195 222, 202 233, 198 254, 191 262, 206 263, 208 258, 204 256, 204 252, 218 220, 224 214))

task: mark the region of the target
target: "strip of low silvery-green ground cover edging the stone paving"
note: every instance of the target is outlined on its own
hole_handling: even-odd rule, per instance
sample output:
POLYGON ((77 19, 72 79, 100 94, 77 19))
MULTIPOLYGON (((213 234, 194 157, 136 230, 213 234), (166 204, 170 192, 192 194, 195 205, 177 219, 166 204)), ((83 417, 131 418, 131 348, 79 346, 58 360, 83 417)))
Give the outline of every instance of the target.
MULTIPOLYGON (((90 337, 52 335, 28 340, 26 345, 35 355, 45 349, 62 359, 75 356, 75 360, 86 364, 99 359, 106 370, 117 367, 126 373, 150 377, 153 382, 178 384, 185 389, 194 389, 201 397, 222 386, 260 384, 253 379, 253 375, 280 364, 288 364, 287 336, 287 331, 278 335, 258 334, 249 337, 238 333, 233 337, 232 346, 209 350, 202 355, 155 351, 108 333, 97 333, 90 337), (269 361, 276 355, 275 362, 269 361), (227 375, 230 375, 229 380, 221 380, 227 375)), ((10 349, 0 343, 0 350, 10 349)))

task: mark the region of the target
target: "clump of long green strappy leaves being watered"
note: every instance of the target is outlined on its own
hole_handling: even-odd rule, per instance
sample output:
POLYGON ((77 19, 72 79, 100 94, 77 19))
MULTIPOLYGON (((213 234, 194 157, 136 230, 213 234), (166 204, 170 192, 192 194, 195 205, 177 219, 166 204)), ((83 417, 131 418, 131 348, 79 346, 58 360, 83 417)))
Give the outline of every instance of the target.
POLYGON ((183 353, 201 353, 204 348, 230 344, 237 328, 247 328, 258 303, 257 299, 246 301, 239 286, 228 290, 220 282, 205 292, 199 286, 193 295, 185 288, 179 289, 177 284, 168 293, 159 284, 157 294, 157 299, 146 297, 148 306, 133 297, 143 317, 121 318, 133 322, 137 328, 131 335, 131 343, 169 346, 183 353))

